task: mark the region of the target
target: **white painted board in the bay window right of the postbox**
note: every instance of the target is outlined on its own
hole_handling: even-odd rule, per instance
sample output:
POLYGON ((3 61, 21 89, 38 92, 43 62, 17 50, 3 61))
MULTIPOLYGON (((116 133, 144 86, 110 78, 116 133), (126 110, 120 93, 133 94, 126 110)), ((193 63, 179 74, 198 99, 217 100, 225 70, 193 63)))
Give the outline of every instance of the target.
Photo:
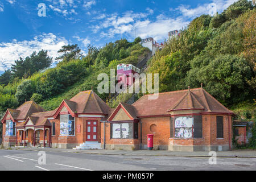
POLYGON ((193 117, 178 117, 175 119, 175 137, 192 138, 193 117))

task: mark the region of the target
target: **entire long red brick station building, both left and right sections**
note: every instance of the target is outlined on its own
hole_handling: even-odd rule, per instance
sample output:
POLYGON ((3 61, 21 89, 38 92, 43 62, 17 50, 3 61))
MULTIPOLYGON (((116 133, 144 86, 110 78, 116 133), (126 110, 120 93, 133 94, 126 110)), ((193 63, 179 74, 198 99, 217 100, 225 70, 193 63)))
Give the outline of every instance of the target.
POLYGON ((25 102, 3 116, 3 144, 139 150, 147 148, 147 134, 154 134, 158 150, 232 148, 233 113, 203 88, 148 97, 132 105, 120 103, 113 111, 93 90, 63 100, 52 111, 25 102))

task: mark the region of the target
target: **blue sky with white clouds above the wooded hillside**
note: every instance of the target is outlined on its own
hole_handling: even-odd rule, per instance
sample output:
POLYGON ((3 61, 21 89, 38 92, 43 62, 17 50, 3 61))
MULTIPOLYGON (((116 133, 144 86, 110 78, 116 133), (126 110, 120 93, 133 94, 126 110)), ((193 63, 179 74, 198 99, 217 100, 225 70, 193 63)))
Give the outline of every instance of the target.
POLYGON ((33 51, 48 55, 67 44, 103 47, 137 36, 157 42, 202 14, 221 13, 236 0, 0 0, 0 74, 33 51))

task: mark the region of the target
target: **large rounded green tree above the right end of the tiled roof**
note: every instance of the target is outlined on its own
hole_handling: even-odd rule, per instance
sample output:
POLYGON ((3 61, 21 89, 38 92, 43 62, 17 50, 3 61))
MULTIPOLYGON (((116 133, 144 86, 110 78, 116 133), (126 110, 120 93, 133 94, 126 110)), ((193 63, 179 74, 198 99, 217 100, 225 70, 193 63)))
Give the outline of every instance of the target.
POLYGON ((197 56, 191 67, 186 84, 198 87, 204 83, 204 88, 223 104, 243 101, 250 94, 246 84, 250 66, 242 56, 218 55, 214 60, 197 56))

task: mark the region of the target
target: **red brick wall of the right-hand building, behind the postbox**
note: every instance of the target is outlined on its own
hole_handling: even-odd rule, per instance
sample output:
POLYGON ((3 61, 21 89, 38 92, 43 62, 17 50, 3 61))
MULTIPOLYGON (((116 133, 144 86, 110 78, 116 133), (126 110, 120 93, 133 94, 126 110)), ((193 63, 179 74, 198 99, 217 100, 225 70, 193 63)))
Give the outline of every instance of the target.
MULTIPOLYGON (((183 145, 183 146, 214 146, 232 143, 232 118, 223 116, 224 138, 217 139, 217 115, 202 115, 203 138, 200 139, 170 139, 170 117, 142 118, 142 144, 147 144, 147 134, 154 134, 154 146, 183 145), (229 121, 230 119, 230 121, 229 121), (230 127, 230 128, 229 128, 230 127)), ((103 123, 101 123, 101 143, 103 144, 103 123)), ((110 123, 105 124, 106 144, 139 144, 141 142, 141 124, 139 123, 139 139, 110 139, 110 123)))

